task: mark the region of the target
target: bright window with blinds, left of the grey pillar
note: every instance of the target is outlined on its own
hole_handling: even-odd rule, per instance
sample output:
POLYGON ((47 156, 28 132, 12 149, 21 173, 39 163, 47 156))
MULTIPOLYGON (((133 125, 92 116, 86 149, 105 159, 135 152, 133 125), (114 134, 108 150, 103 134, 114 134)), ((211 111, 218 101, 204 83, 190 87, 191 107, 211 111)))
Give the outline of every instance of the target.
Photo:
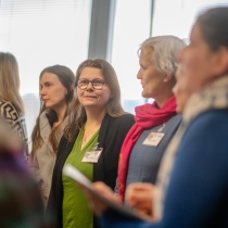
POLYGON ((87 59, 91 0, 1 0, 0 50, 18 62, 28 137, 39 111, 39 74, 87 59))

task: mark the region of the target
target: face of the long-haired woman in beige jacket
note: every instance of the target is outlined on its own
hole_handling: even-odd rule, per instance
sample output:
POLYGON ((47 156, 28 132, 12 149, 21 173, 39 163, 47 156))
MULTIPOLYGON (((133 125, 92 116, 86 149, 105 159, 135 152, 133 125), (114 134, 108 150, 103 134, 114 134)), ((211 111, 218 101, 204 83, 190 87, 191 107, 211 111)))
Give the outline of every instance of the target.
POLYGON ((45 72, 40 78, 40 96, 46 107, 58 110, 66 106, 66 88, 55 74, 45 72))

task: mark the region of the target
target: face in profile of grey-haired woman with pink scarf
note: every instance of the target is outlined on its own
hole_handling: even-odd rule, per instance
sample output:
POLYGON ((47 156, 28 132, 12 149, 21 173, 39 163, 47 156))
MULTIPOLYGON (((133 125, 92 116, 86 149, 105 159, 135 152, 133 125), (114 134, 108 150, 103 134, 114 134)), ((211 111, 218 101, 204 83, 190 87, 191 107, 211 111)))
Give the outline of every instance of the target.
POLYGON ((145 47, 141 49, 139 55, 140 69, 137 78, 141 80, 142 97, 154 98, 156 100, 163 91, 165 75, 155 68, 155 65, 151 61, 152 54, 152 48, 145 47))

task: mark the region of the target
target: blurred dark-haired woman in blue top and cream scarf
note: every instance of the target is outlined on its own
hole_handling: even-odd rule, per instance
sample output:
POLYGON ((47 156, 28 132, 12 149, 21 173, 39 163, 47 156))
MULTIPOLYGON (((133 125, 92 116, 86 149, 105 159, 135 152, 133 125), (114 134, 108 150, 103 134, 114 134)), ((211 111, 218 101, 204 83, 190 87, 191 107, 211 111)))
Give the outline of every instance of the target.
MULTIPOLYGON (((228 8, 207 10, 198 17, 190 45, 180 53, 181 87, 191 96, 151 190, 154 221, 134 220, 109 211, 101 219, 102 227, 228 227, 227 27, 228 8)), ((135 192, 135 199, 137 195, 135 192)), ((101 214, 105 205, 96 202, 93 199, 101 214)))

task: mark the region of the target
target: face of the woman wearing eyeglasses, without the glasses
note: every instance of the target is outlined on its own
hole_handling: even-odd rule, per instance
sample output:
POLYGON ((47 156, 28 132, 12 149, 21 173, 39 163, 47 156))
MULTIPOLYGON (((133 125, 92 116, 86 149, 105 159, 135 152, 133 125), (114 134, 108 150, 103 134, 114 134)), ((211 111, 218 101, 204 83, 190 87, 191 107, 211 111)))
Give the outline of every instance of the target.
MULTIPOLYGON (((85 67, 81 73, 79 79, 94 80, 102 79, 102 71, 96 67, 85 67)), ((77 97, 80 104, 87 110, 89 107, 101 107, 104 110, 106 104, 111 98, 111 90, 106 84, 100 90, 96 90, 91 83, 89 83, 87 89, 83 90, 80 88, 76 88, 77 97)))

